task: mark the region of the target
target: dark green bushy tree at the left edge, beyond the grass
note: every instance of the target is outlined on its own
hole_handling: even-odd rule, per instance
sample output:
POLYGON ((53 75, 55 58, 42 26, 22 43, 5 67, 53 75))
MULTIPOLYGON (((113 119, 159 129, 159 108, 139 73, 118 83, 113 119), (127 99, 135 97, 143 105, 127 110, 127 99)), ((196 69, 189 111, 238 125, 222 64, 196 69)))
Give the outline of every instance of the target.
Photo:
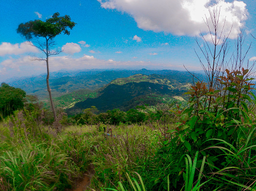
POLYGON ((14 88, 2 83, 0 86, 0 114, 7 117, 13 111, 24 107, 26 92, 20 88, 14 88))

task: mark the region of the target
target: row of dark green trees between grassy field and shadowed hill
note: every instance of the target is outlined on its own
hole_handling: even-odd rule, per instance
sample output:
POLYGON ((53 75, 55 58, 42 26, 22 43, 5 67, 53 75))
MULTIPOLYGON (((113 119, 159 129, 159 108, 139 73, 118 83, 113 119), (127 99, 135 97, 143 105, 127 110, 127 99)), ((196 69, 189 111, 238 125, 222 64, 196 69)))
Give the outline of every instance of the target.
POLYGON ((107 112, 98 113, 95 106, 84 110, 83 113, 77 114, 72 119, 74 124, 143 124, 157 122, 165 118, 165 122, 174 122, 173 113, 170 110, 172 105, 159 104, 157 106, 137 106, 136 109, 130 109, 127 112, 120 109, 108 110, 107 112), (97 114, 98 113, 98 114, 97 114))

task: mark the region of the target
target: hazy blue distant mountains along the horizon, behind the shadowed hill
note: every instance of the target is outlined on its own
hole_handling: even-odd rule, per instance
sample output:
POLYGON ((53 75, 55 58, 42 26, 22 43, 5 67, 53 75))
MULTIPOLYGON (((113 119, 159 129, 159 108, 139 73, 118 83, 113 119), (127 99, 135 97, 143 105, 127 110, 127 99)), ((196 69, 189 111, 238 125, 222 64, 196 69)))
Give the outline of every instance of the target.
MULTIPOLYGON (((191 82, 188 72, 175 70, 87 70, 74 72, 52 72, 50 76, 50 87, 53 97, 59 97, 80 89, 96 90, 107 85, 117 78, 126 78, 134 74, 162 74, 179 82, 191 82)), ((203 78, 202 74, 197 74, 203 78)), ((40 99, 47 99, 45 74, 30 78, 20 78, 7 81, 10 86, 25 90, 28 95, 37 95, 40 99)))

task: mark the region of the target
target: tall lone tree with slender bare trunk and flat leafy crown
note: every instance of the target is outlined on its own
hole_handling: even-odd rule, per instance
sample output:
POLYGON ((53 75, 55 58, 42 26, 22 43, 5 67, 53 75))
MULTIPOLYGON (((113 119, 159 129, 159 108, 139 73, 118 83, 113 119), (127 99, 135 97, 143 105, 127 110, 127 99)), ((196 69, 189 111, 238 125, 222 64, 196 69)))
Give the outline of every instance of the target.
POLYGON ((64 35, 69 35, 70 32, 68 31, 68 29, 73 29, 75 24, 76 23, 72 22, 71 18, 68 15, 59 16, 59 13, 57 12, 52 15, 52 18, 46 19, 45 21, 34 20, 26 23, 21 23, 19 24, 19 27, 17 29, 18 34, 24 36, 26 40, 30 42, 33 41, 33 43, 35 43, 30 43, 30 45, 39 48, 45 54, 44 58, 36 60, 44 60, 46 62, 46 84, 55 120, 57 119, 57 115, 55 107, 53 105, 51 89, 49 86, 49 56, 61 53, 61 49, 59 48, 52 49, 56 45, 54 38, 61 33, 64 33, 64 35))

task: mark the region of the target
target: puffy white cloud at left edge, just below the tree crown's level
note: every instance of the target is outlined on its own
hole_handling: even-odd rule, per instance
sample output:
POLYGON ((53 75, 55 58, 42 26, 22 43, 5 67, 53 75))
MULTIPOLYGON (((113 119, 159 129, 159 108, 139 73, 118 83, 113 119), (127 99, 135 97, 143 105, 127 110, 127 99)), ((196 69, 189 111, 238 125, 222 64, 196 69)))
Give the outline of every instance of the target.
POLYGON ((7 54, 23 54, 27 52, 39 52, 38 49, 35 46, 29 45, 32 44, 28 41, 21 43, 21 44, 11 44, 11 43, 2 43, 0 45, 0 56, 4 56, 7 54))

